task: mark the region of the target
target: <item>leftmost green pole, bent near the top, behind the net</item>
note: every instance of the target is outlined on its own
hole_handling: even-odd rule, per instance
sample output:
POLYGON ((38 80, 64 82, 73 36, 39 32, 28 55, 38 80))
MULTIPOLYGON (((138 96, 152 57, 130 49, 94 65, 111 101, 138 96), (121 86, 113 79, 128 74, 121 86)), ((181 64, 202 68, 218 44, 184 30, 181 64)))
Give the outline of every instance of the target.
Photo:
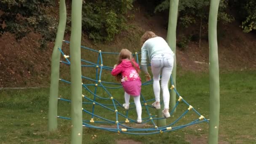
POLYGON ((59 26, 56 35, 55 45, 51 56, 51 85, 48 105, 48 130, 55 131, 57 129, 57 105, 59 95, 59 61, 60 51, 58 48, 62 46, 67 21, 67 12, 65 0, 59 3, 59 26))

